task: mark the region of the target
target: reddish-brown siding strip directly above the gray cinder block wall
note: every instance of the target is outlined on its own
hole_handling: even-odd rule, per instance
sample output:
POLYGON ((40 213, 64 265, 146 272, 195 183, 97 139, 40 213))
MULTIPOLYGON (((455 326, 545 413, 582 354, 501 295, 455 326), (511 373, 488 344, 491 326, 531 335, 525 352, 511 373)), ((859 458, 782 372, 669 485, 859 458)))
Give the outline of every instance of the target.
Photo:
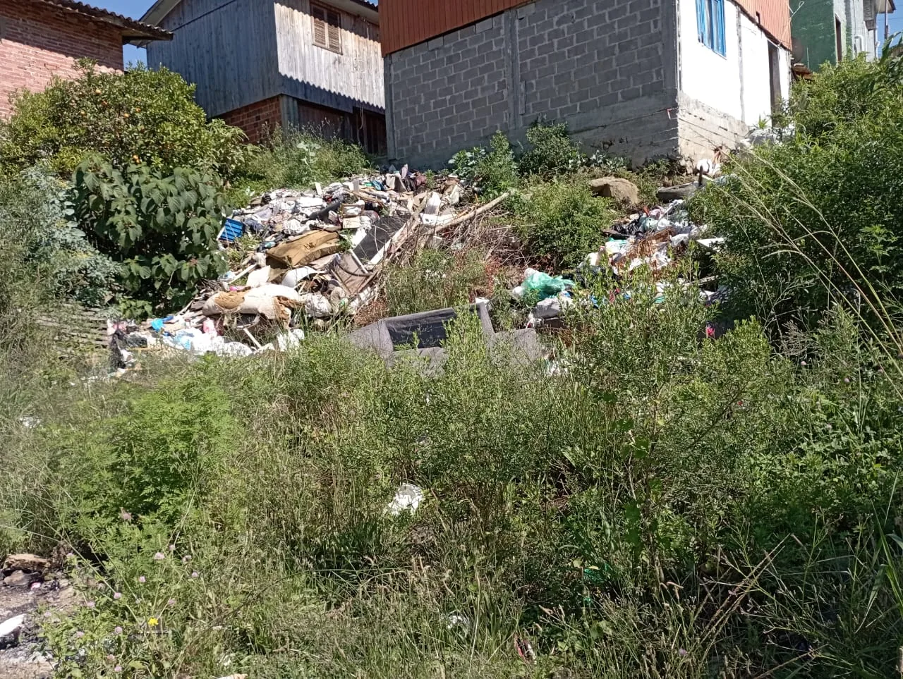
POLYGON ((383 54, 448 33, 525 0, 380 0, 383 54))

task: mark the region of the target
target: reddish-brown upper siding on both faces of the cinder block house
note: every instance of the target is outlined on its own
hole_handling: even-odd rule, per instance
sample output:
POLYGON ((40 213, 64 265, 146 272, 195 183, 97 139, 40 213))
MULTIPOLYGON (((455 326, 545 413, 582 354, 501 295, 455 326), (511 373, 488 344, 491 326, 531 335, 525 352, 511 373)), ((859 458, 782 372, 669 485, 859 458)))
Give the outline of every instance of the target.
MULTIPOLYGON (((760 21, 763 29, 787 48, 790 47, 788 0, 738 0, 738 3, 753 21, 760 21)), ((383 34, 383 54, 403 50, 511 7, 526 4, 525 0, 381 0, 379 23, 383 34)))

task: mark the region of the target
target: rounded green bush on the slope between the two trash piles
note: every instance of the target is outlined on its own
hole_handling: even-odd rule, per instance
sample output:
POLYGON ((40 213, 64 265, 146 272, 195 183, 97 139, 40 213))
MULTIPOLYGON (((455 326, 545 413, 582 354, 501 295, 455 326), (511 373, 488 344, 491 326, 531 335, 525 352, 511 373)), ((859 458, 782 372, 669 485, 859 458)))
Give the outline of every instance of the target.
POLYGON ((515 210, 527 249, 554 269, 576 266, 598 250, 612 216, 610 203, 593 198, 582 181, 535 186, 515 210))

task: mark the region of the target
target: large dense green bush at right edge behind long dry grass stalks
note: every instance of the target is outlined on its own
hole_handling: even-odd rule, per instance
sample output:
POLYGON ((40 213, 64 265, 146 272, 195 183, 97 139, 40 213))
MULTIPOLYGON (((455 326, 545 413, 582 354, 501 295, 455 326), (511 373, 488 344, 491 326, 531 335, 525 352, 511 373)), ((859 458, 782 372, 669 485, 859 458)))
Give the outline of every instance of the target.
POLYGON ((893 63, 844 60, 798 85, 796 135, 733 161, 728 180, 694 201, 697 218, 727 237, 718 264, 735 316, 815 327, 832 302, 874 320, 903 299, 903 80, 893 63))

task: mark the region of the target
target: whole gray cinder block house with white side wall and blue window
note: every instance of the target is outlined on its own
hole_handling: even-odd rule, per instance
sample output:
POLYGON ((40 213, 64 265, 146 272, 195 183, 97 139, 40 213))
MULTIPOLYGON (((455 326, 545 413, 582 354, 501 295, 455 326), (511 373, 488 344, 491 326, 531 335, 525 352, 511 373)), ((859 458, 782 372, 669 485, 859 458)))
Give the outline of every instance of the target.
POLYGON ((537 118, 634 163, 736 144, 787 97, 788 0, 382 0, 388 151, 440 166, 537 118))

